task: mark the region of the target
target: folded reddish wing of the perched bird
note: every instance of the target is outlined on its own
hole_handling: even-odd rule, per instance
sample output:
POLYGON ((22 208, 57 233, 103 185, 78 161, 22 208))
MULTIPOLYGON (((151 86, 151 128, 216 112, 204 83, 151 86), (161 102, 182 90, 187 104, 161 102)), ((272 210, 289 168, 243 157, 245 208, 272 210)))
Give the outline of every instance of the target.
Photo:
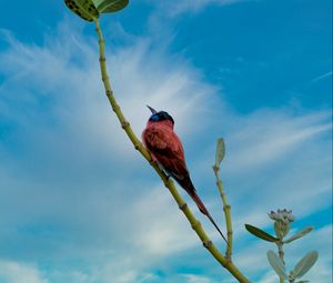
POLYGON ((173 131, 148 128, 142 138, 145 146, 168 173, 178 181, 189 176, 183 146, 173 131))

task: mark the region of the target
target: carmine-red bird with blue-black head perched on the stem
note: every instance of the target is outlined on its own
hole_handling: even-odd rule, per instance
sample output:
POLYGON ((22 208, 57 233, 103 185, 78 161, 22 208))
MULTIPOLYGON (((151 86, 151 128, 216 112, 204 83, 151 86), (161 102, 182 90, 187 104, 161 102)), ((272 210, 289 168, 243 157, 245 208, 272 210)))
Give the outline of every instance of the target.
POLYGON ((228 243, 215 221, 196 194, 196 190, 186 168, 182 143, 173 131, 174 121, 172 117, 165 111, 158 112, 151 107, 148 108, 152 112, 152 115, 142 132, 142 140, 145 148, 150 151, 152 159, 190 194, 199 210, 209 218, 228 243))

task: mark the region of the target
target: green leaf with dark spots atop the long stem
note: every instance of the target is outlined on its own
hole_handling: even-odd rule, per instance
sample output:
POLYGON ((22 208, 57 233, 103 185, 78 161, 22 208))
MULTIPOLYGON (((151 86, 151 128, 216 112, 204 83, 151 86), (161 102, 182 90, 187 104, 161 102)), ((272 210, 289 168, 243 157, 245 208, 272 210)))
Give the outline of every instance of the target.
POLYGON ((99 18, 92 0, 64 0, 67 7, 85 21, 93 21, 99 18))

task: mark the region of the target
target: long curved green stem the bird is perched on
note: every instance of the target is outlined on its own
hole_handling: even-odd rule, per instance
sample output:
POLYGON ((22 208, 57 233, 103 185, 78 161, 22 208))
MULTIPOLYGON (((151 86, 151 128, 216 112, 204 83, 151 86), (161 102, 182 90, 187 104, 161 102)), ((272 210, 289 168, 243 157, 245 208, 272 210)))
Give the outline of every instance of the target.
POLYGON ((152 161, 150 153, 147 151, 147 149, 142 145, 140 140, 137 138, 134 132, 132 131, 130 123, 125 120, 119 104, 117 103, 117 100, 113 95, 111 83, 109 81, 108 70, 107 70, 107 60, 105 60, 105 47, 104 47, 104 38, 102 34, 102 31, 100 29, 99 20, 94 20, 95 22, 95 30, 99 37, 99 47, 100 47, 100 68, 101 68, 101 75, 102 81, 105 88, 105 93, 109 99, 109 102, 112 107, 112 110, 114 111, 115 115, 118 117, 118 120, 122 127, 122 129, 128 134, 129 139, 133 143, 135 150, 138 150, 142 156, 151 164, 151 166, 155 170, 155 172, 159 174, 161 180, 163 181, 164 185, 169 189, 172 196, 174 198, 175 202, 178 203, 179 208, 182 210, 182 212, 185 214, 186 219, 191 223, 192 229, 195 231, 200 240, 202 241, 204 247, 214 256, 214 259, 224 266, 239 282, 241 283, 250 283, 250 281, 236 269, 236 266, 231 262, 228 261, 223 254, 220 253, 220 251, 215 247, 215 245, 212 243, 212 241, 206 235, 205 231, 203 230, 201 223, 194 218, 194 214, 189 209, 186 203, 183 201, 181 195, 179 194, 178 190, 174 186, 174 183, 168 175, 155 164, 155 162, 152 161))

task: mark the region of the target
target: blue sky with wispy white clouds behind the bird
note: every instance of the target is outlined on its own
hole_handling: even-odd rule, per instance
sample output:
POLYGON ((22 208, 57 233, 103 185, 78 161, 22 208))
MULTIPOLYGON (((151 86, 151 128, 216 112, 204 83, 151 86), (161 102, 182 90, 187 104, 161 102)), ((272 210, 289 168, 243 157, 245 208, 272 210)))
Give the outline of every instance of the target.
MULTIPOLYGON (((0 283, 234 282, 119 128, 93 24, 62 1, 2 7, 0 283)), ((145 104, 174 118, 220 226, 211 165, 216 138, 225 139, 234 262, 252 282, 276 282, 265 259, 274 247, 243 224, 272 231, 266 212, 278 208, 293 210, 294 231, 315 226, 286 247, 287 267, 317 250, 306 279, 332 280, 331 11, 327 0, 138 0, 101 19, 112 85, 134 131, 145 104)))

